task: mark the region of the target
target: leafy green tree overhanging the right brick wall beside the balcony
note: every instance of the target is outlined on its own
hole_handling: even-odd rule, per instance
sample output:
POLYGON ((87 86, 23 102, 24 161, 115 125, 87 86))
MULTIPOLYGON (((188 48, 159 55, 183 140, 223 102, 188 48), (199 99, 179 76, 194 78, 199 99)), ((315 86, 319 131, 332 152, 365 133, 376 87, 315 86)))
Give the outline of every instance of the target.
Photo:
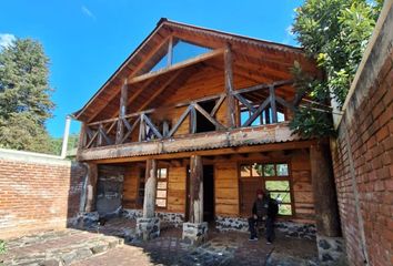
POLYGON ((334 134, 333 99, 342 108, 357 65, 375 27, 382 0, 306 0, 296 9, 293 32, 305 53, 316 60, 323 79, 304 73, 295 63, 298 102, 290 126, 303 136, 334 134), (312 100, 300 106, 300 100, 312 100))

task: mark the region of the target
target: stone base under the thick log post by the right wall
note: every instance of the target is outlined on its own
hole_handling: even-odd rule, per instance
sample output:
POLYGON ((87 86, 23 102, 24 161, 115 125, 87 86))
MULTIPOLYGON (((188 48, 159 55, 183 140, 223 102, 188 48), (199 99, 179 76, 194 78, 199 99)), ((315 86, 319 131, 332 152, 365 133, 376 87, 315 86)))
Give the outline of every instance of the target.
POLYGON ((342 237, 316 235, 319 259, 323 265, 341 265, 346 260, 345 245, 342 237))

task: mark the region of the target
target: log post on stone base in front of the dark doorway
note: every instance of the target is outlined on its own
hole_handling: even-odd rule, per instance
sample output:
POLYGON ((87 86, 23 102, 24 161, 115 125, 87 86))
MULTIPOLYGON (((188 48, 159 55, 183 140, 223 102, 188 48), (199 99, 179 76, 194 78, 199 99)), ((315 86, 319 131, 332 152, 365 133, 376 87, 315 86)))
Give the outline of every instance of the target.
POLYGON ((200 244, 208 236, 208 223, 203 222, 203 165, 201 156, 191 156, 190 171, 190 221, 183 223, 183 239, 192 244, 200 244))

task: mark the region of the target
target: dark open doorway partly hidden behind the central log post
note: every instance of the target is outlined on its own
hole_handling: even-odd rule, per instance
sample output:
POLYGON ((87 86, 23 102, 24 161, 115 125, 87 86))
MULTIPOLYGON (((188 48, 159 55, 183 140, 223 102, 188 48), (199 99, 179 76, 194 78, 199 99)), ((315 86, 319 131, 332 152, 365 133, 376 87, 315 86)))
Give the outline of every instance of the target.
MULTIPOLYGON (((187 167, 185 221, 190 218, 190 166, 187 167)), ((214 165, 203 165, 203 221, 214 222, 214 165)))

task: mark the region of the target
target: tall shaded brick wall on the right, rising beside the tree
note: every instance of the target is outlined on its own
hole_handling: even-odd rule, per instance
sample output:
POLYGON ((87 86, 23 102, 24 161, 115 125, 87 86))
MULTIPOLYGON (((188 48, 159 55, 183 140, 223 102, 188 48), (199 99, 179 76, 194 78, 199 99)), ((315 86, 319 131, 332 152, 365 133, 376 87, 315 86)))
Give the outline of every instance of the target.
POLYGON ((351 265, 393 265, 393 9, 386 3, 332 143, 351 265))

